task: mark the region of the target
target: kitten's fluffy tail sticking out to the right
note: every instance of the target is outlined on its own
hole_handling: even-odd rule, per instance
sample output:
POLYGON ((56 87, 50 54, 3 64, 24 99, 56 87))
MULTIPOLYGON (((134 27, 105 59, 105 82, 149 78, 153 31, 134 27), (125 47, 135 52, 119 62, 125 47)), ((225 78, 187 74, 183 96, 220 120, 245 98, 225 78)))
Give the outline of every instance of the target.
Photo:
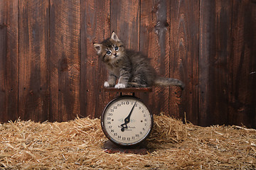
POLYGON ((166 78, 166 77, 158 77, 155 79, 154 84, 159 86, 180 86, 181 89, 185 88, 185 84, 178 79, 166 78))

